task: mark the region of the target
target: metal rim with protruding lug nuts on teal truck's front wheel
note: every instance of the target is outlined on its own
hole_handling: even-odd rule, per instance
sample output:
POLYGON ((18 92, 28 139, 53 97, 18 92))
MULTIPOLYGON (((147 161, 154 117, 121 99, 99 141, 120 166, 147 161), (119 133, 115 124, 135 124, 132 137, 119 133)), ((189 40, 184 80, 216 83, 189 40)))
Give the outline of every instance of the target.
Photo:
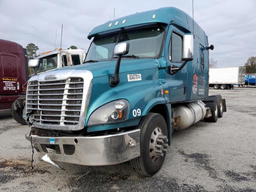
POLYGON ((166 152, 167 147, 167 136, 162 134, 162 129, 160 127, 156 127, 153 130, 149 141, 149 157, 151 162, 155 163, 163 157, 163 152, 166 152))

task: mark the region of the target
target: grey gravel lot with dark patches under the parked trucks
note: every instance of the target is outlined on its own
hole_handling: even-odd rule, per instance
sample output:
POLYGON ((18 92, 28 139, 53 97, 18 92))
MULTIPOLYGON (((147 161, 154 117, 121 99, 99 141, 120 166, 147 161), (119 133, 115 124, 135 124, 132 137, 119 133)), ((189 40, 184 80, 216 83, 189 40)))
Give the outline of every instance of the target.
POLYGON ((256 89, 210 90, 227 110, 217 123, 199 122, 172 136, 166 160, 152 178, 128 163, 86 167, 39 161, 24 138, 28 126, 0 118, 0 191, 256 192, 256 89))

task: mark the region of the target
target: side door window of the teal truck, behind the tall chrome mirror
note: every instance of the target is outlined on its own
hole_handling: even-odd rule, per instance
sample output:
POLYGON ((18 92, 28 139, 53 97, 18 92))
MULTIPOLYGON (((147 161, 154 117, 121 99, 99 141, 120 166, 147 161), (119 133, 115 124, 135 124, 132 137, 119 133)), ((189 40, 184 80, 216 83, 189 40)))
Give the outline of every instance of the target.
POLYGON ((168 56, 172 62, 180 62, 182 60, 182 37, 176 33, 172 33, 168 56))

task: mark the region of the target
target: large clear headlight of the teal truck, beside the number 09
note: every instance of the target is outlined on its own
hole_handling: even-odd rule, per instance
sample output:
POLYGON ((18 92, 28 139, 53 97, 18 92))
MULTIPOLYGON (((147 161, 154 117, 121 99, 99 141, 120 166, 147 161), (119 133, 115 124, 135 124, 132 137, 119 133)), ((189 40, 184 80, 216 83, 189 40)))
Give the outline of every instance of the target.
POLYGON ((115 100, 96 109, 88 121, 88 126, 122 122, 127 119, 129 102, 124 99, 115 100))

